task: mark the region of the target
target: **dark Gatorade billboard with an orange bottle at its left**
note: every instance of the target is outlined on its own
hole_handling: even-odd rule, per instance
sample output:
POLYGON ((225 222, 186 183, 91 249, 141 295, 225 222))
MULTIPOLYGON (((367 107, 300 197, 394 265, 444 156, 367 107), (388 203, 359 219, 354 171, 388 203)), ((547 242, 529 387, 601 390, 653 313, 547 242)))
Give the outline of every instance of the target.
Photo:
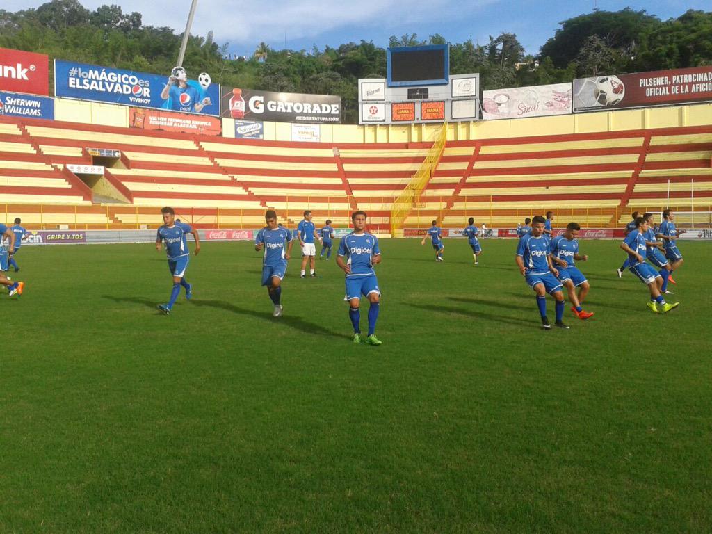
POLYGON ((222 88, 223 117, 272 122, 341 123, 341 97, 222 88))

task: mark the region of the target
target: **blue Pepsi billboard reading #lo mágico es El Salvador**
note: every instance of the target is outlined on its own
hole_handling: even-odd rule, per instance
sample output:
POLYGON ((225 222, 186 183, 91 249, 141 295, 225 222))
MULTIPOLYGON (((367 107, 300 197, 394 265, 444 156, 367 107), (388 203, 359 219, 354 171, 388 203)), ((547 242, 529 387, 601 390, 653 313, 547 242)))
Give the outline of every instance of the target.
POLYGON ((191 80, 182 67, 159 76, 58 59, 54 62, 54 91, 63 98, 220 115, 220 86, 214 85, 207 73, 191 80))

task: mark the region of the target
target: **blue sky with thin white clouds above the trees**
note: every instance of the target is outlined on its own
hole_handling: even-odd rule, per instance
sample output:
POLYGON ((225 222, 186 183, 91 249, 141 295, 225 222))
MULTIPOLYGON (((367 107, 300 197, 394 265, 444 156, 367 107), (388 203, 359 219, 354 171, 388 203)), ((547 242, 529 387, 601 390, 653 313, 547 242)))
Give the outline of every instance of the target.
MULTIPOLYGON (((191 0, 80 0, 88 9, 118 4, 123 11, 140 11, 143 23, 185 28, 191 0)), ((36 8, 41 0, 3 0, 3 9, 36 8)), ((229 44, 229 52, 251 55, 258 43, 271 48, 310 50, 314 45, 337 47, 353 41, 388 46, 389 36, 417 33, 426 39, 439 33, 451 43, 471 38, 487 43, 488 36, 515 33, 527 53, 536 54, 554 35, 560 21, 593 9, 617 11, 645 9, 666 20, 688 9, 711 11, 710 0, 648 1, 534 1, 534 0, 198 0, 191 33, 214 32, 216 43, 229 44), (229 7, 234 6, 234 7, 229 7)))

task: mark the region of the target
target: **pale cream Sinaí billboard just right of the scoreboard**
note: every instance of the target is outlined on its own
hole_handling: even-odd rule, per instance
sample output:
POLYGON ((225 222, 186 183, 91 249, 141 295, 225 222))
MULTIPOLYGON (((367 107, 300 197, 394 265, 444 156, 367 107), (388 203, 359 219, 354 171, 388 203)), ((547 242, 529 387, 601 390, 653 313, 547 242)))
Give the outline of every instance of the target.
POLYGON ((571 112, 571 84, 533 85, 484 91, 483 119, 519 119, 568 115, 571 112))

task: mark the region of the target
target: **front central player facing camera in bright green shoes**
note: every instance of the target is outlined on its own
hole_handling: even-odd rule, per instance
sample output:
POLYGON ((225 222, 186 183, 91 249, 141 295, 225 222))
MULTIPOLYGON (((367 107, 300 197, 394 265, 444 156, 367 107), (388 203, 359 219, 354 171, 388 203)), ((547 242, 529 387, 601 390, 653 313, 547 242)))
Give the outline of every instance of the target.
POLYGON ((381 291, 378 288, 376 271, 373 266, 381 263, 381 251, 378 239, 372 234, 367 234, 366 212, 354 211, 351 221, 354 231, 341 239, 336 264, 346 273, 346 296, 349 308, 349 318, 354 328, 353 342, 361 342, 360 304, 361 295, 370 302, 368 308, 368 335, 366 342, 369 345, 381 345, 376 337, 376 320, 381 300, 381 291))

